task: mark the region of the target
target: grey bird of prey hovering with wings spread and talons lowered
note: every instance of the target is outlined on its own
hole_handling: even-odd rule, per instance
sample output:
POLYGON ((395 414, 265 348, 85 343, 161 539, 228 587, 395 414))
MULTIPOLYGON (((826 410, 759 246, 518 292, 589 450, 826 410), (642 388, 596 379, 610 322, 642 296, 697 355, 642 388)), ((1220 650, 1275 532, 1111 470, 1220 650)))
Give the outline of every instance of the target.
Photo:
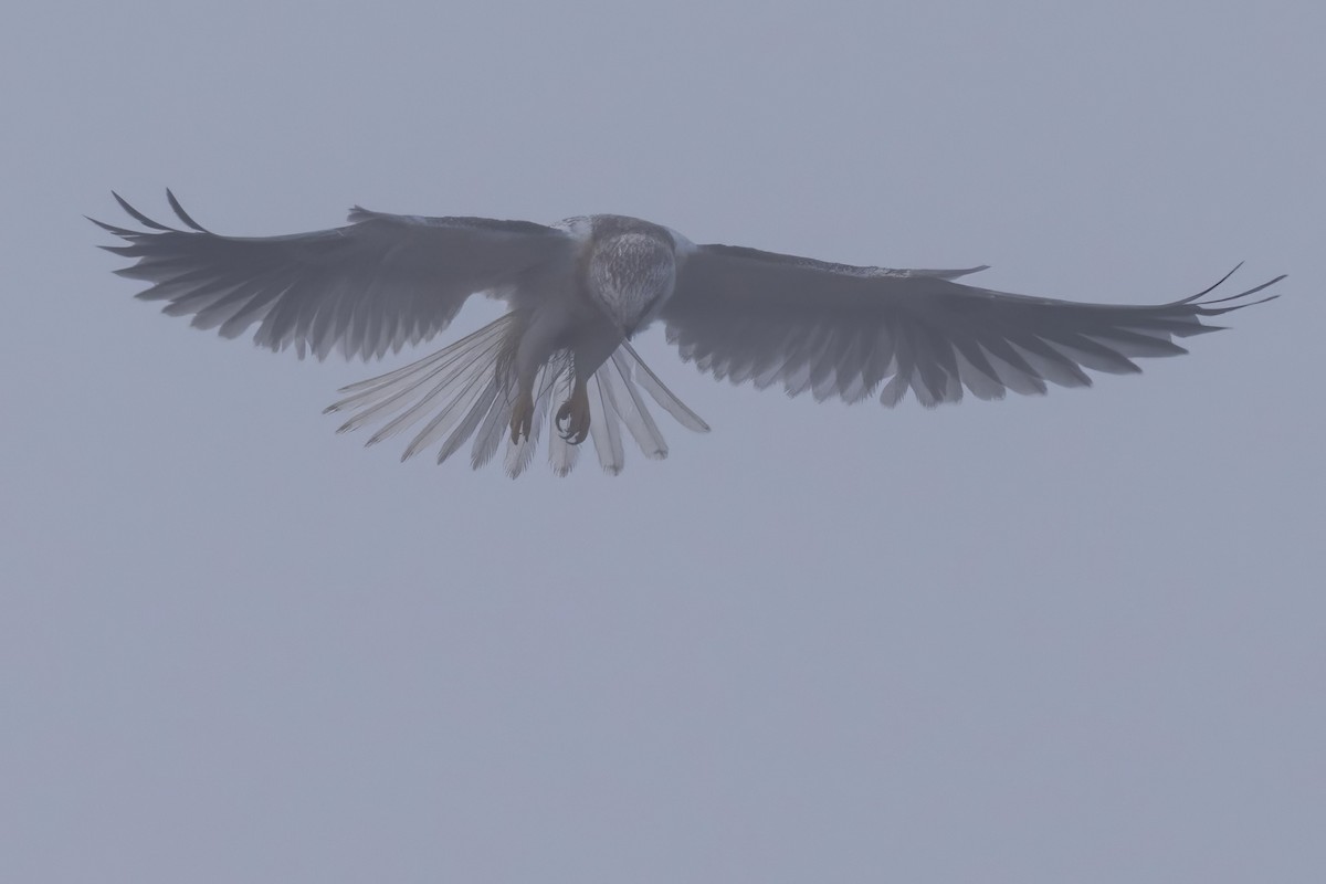
POLYGON ((1087 370, 1138 372, 1135 358, 1187 353, 1175 338, 1224 327, 1203 319, 1270 301, 1278 296, 1261 293, 1285 278, 1211 297, 1236 266, 1179 301, 1085 304, 956 281, 985 265, 854 266, 696 245, 623 215, 545 225, 355 205, 343 227, 239 237, 198 224, 170 190, 182 228, 111 195, 142 229, 88 220, 123 241, 101 248, 134 258, 115 273, 150 284, 138 298, 225 338, 255 329, 255 343, 301 359, 378 359, 440 334, 473 294, 505 302, 477 331, 343 387, 326 412, 349 416, 338 432, 378 427, 369 445, 412 429, 402 460, 438 445, 440 464, 473 440, 477 469, 504 445, 512 477, 545 424, 560 476, 586 439, 606 472, 621 472, 623 428, 647 457, 666 457, 646 395, 682 427, 709 431, 631 346, 656 322, 683 360, 716 379, 887 407, 910 391, 932 408, 964 391, 993 400, 1089 387, 1087 370))

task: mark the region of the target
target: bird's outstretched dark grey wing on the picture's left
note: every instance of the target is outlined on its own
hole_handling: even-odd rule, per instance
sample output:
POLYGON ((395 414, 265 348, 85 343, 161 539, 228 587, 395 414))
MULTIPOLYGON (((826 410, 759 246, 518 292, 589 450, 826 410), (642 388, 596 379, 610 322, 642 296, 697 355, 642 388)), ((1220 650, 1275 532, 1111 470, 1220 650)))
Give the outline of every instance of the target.
POLYGON ((465 298, 504 294, 570 261, 572 237, 529 221, 418 217, 355 207, 350 224, 293 236, 219 236, 167 199, 180 223, 154 221, 115 195, 146 231, 93 220, 126 241, 102 247, 137 258, 121 276, 151 282, 138 297, 166 301, 164 311, 192 315, 200 329, 233 338, 257 326, 253 341, 293 346, 320 359, 381 357, 447 327, 465 298))

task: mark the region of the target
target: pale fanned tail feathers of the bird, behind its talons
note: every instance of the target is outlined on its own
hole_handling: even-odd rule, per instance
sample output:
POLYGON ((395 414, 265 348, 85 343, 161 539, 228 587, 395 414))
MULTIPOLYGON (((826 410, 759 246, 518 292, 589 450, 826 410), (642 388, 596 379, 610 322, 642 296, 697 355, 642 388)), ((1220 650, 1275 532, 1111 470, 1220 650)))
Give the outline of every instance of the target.
MULTIPOLYGON (((579 448, 568 444, 557 432, 552 403, 564 402, 570 395, 574 376, 572 359, 558 353, 540 370, 534 380, 530 435, 511 441, 512 403, 517 392, 514 374, 507 370, 514 347, 512 322, 512 314, 504 315, 403 368, 350 384, 341 391, 349 395, 329 406, 326 414, 351 414, 337 432, 381 424, 367 445, 426 421, 406 445, 402 460, 440 443, 440 464, 473 439, 469 463, 479 469, 505 443, 504 467, 512 478, 529 467, 546 424, 549 464, 558 476, 566 476, 575 468, 579 448)), ((646 457, 667 457, 667 441, 640 395, 642 390, 687 429, 709 429, 663 386, 629 343, 622 343, 589 382, 590 437, 599 465, 614 476, 626 465, 622 427, 646 457)))

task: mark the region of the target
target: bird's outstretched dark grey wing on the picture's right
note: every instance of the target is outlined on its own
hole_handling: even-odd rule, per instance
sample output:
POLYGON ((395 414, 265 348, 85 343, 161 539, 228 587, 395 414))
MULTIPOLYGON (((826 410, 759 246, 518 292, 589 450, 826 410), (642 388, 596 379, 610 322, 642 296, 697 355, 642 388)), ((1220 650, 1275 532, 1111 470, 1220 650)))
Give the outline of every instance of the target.
POLYGON ((1044 394, 1046 382, 1090 386, 1083 368, 1139 371, 1132 358, 1187 353, 1175 337, 1213 331, 1220 326, 1199 319, 1260 304, 1249 297, 1284 278, 1224 298, 1205 300, 1211 286, 1183 301, 1116 306, 952 281, 983 269, 858 268, 700 245, 687 253, 660 318, 682 358, 716 378, 847 402, 887 379, 883 404, 910 388, 931 407, 960 400, 964 387, 1001 399, 1006 390, 1044 394))

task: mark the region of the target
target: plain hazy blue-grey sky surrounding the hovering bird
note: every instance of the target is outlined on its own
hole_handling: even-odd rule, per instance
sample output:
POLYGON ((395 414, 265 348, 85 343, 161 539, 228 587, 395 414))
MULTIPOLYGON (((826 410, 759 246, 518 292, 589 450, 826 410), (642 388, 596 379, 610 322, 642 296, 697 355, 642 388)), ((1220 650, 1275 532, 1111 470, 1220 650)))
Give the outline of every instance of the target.
POLYGON ((1323 9, 9 4, 0 879, 1323 880, 1323 9), (134 301, 81 216, 166 186, 241 235, 1290 277, 1142 376, 937 411, 652 331, 713 432, 512 482, 335 436, 378 366, 134 301))

